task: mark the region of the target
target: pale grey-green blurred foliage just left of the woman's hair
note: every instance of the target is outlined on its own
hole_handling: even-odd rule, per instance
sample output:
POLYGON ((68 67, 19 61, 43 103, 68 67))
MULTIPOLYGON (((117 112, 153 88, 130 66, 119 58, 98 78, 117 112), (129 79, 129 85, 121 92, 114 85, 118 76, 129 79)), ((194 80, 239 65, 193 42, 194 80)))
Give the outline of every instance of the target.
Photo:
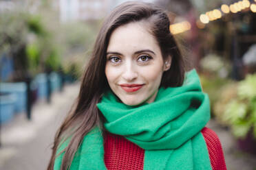
POLYGON ((98 28, 99 23, 97 21, 70 22, 61 25, 58 42, 64 47, 63 71, 66 75, 70 75, 72 80, 81 78, 98 28))

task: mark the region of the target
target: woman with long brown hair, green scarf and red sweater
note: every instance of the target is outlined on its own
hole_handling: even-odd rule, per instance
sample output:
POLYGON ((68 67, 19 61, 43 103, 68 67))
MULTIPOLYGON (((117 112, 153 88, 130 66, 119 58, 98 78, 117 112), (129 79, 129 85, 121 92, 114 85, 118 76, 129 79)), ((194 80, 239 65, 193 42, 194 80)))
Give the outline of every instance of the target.
POLYGON ((204 127, 209 98, 195 70, 185 73, 169 24, 151 3, 111 12, 48 169, 226 169, 204 127))

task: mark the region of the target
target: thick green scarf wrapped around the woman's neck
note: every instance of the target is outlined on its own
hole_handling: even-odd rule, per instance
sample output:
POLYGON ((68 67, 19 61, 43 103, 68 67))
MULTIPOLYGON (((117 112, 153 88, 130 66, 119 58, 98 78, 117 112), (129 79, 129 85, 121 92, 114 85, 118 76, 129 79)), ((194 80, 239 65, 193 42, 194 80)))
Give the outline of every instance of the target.
MULTIPOLYGON (((145 149, 144 169, 211 169, 200 132, 210 119, 209 97, 202 93, 195 70, 186 73, 182 86, 160 88, 151 104, 127 106, 108 92, 97 106, 109 132, 145 149)), ((83 139, 71 169, 107 169, 103 145, 102 132, 96 127, 83 139)), ((60 168, 62 157, 56 158, 54 169, 60 168)))

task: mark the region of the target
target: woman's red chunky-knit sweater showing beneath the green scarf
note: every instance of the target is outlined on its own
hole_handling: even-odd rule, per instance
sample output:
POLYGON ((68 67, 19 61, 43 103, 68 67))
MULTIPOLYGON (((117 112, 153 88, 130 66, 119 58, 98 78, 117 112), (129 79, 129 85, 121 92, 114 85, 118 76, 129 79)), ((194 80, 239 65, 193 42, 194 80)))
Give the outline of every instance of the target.
MULTIPOLYGON (((217 134, 204 127, 202 135, 206 141, 213 170, 226 170, 222 146, 217 134)), ((116 134, 106 133, 104 145, 105 165, 109 170, 143 169, 145 150, 116 134)))

